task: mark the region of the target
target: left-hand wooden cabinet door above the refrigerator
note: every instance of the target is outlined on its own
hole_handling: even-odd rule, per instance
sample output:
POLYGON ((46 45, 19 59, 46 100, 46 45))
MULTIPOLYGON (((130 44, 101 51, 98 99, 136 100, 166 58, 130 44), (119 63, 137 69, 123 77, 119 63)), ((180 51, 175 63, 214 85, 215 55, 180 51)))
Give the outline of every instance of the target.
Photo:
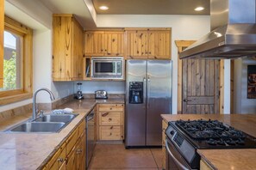
POLYGON ((147 59, 147 30, 128 30, 127 59, 147 59))

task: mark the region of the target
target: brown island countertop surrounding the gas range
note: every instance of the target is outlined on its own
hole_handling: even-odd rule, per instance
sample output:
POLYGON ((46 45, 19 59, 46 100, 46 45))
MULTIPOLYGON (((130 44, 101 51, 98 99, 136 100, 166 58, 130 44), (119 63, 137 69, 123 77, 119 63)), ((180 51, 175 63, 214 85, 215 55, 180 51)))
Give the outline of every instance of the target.
MULTIPOLYGON (((217 119, 256 137, 256 115, 253 114, 162 114, 165 122, 179 119, 217 119)), ((197 149, 197 153, 214 169, 255 169, 256 149, 197 149)))

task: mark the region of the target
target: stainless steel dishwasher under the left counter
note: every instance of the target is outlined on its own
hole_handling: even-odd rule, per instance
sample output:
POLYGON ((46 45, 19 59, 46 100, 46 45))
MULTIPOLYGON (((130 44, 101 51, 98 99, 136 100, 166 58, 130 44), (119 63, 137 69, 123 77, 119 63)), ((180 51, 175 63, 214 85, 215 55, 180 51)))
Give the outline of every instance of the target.
POLYGON ((86 167, 88 169, 93 150, 95 148, 95 137, 94 137, 94 110, 86 116, 86 167))

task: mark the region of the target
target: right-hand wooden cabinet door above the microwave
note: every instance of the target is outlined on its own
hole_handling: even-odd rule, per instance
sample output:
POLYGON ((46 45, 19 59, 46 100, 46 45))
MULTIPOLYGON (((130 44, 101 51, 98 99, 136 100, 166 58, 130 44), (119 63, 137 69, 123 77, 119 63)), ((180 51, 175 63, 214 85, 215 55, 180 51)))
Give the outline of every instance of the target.
POLYGON ((104 55, 123 56, 124 31, 105 31, 104 55))

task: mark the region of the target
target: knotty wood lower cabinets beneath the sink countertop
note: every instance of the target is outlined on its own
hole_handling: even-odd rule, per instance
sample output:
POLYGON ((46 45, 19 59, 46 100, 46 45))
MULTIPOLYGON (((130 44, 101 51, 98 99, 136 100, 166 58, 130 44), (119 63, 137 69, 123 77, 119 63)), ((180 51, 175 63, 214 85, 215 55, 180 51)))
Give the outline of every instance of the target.
POLYGON ((77 129, 43 167, 43 170, 52 169, 85 169, 85 121, 78 125, 77 129))

